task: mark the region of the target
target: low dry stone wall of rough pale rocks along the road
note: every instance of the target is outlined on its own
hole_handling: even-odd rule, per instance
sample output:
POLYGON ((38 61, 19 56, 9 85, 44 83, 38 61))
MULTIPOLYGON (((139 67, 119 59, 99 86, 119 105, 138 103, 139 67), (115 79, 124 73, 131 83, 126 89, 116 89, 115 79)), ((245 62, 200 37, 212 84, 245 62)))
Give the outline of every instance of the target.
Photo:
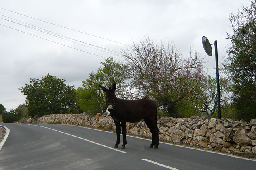
MULTIPOLYGON (((114 121, 108 114, 92 116, 83 114, 53 114, 42 116, 28 123, 61 123, 87 126, 95 129, 114 130, 114 121)), ((250 122, 231 119, 160 117, 157 120, 159 139, 190 146, 216 148, 226 152, 256 154, 256 119, 250 122)), ((144 120, 127 123, 127 133, 151 137, 144 120)))

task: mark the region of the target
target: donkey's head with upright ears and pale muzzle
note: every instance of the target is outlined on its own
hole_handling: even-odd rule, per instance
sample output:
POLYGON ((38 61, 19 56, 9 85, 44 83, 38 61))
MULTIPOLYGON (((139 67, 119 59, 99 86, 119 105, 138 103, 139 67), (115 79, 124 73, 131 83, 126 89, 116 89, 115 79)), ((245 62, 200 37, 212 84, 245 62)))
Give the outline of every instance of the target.
POLYGON ((115 105, 115 100, 116 100, 116 95, 115 95, 115 90, 116 90, 116 83, 113 84, 113 86, 109 87, 107 89, 106 87, 103 87, 102 85, 99 84, 99 87, 106 93, 106 104, 108 109, 113 109, 115 105))

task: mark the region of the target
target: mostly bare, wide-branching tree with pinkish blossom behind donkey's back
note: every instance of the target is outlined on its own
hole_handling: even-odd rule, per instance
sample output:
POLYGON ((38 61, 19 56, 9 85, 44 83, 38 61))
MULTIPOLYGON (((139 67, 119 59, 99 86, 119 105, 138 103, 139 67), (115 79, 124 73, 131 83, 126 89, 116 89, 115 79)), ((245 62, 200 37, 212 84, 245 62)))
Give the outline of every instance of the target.
POLYGON ((203 59, 196 52, 190 50, 188 56, 183 56, 173 44, 156 45, 146 38, 131 50, 123 50, 123 56, 128 61, 129 85, 138 97, 151 98, 169 116, 184 116, 179 110, 193 104, 189 96, 197 91, 205 76, 203 59))

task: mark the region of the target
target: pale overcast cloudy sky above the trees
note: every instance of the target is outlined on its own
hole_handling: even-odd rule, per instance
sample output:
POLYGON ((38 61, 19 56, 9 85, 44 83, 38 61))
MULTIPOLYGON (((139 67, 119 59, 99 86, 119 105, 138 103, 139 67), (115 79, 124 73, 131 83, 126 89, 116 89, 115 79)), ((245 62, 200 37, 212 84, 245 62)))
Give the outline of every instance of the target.
MULTIPOLYGON (((205 35, 217 40, 221 63, 230 44, 226 32, 232 33, 228 17, 242 5, 250 0, 1 0, 0 103, 6 110, 25 103, 18 88, 47 73, 80 87, 109 56, 123 60, 100 50, 118 52, 145 36, 173 42, 184 56, 191 48, 204 57, 205 35)), ((215 76, 214 54, 204 61, 215 76)))

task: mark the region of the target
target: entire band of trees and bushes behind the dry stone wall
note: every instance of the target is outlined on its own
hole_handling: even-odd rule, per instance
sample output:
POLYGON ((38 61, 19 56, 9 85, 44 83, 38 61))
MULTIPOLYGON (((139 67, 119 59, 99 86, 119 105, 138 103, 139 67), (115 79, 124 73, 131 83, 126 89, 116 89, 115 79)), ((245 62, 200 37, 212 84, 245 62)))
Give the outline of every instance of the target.
MULTIPOLYGON (((220 77, 223 118, 250 120, 256 118, 256 0, 231 14, 231 44, 222 63, 220 77)), ((65 79, 47 74, 30 78, 21 87, 26 103, 6 111, 0 104, 4 122, 46 114, 72 114, 106 111, 103 92, 98 84, 116 83, 116 95, 126 99, 148 97, 158 106, 158 115, 218 117, 216 78, 205 73, 203 58, 193 50, 183 55, 173 43, 152 42, 149 37, 122 51, 124 62, 112 57, 90 73, 82 86, 75 89, 65 79)))

